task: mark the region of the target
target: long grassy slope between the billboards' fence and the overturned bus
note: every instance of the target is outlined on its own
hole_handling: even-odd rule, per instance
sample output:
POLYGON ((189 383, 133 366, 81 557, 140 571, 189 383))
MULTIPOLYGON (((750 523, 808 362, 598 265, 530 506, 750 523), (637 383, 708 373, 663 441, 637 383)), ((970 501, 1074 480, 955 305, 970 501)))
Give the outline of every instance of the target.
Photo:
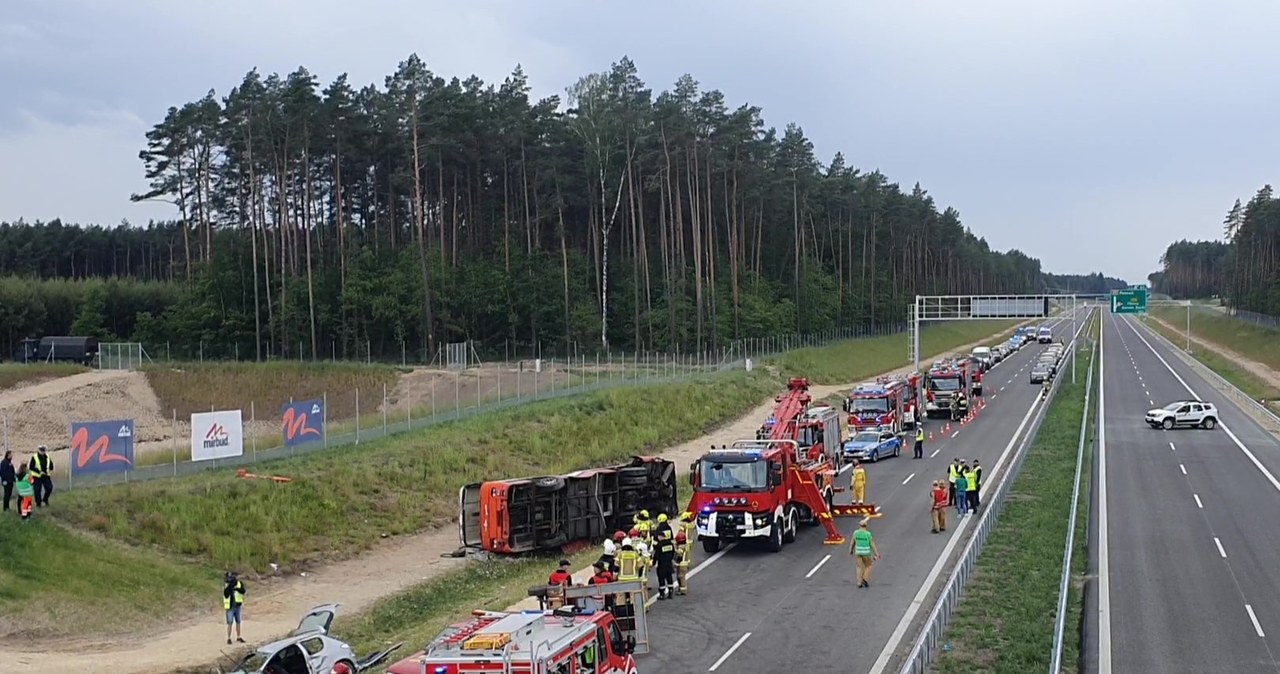
POLYGON ((448 523, 460 485, 662 450, 740 417, 777 388, 767 375, 733 372, 532 403, 253 468, 289 483, 237 480, 228 468, 69 491, 58 513, 215 568, 297 570, 358 554, 383 535, 448 523))

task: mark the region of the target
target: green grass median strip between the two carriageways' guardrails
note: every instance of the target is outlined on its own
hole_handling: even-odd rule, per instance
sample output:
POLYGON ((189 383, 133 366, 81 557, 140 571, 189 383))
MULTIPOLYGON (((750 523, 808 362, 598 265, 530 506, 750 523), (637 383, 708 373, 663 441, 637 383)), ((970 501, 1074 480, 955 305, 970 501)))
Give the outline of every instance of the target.
MULTIPOLYGON (((1097 339, 1097 322, 1089 326, 1097 339)), ((1088 353, 1080 353, 1082 363, 1088 353)), ((1096 423, 1091 398, 1084 409, 1084 388, 1061 380, 1061 389, 1046 413, 1000 519, 965 584, 964 596, 947 625, 932 670, 940 674, 1025 674, 1048 669, 1057 615, 1062 547, 1080 432, 1080 417, 1089 414, 1089 436, 1096 423)), ((1097 388, 1094 386, 1094 394, 1097 388)), ((1080 500, 1071 558, 1062 671, 1078 671, 1083 578, 1088 572, 1088 504, 1092 443, 1085 444, 1080 500)))

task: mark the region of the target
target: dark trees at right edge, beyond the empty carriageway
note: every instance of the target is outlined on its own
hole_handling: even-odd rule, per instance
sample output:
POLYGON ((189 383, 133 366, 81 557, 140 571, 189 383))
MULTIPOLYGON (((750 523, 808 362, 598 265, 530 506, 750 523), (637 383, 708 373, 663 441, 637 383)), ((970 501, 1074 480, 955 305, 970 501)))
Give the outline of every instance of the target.
POLYGON ((1280 198, 1263 185, 1248 203, 1235 200, 1222 220, 1224 240, 1179 240, 1149 276, 1172 297, 1220 295, 1238 310, 1280 315, 1280 198))

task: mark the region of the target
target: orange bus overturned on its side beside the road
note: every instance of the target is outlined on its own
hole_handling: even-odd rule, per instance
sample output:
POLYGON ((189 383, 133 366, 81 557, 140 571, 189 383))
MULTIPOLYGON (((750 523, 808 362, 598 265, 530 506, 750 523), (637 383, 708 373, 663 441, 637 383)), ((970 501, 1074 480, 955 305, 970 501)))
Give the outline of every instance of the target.
POLYGON ((609 468, 466 485, 458 490, 458 536, 463 549, 488 553, 570 553, 630 529, 640 510, 676 508, 676 464, 634 457, 609 468))

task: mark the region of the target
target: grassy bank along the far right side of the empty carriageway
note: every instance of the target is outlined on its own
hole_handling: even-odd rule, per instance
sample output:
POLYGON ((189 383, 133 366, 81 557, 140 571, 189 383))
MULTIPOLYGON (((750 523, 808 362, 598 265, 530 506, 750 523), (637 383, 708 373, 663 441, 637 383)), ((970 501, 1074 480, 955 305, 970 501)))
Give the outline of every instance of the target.
MULTIPOLYGON (((1151 315, 1181 330, 1170 330, 1156 322, 1147 325, 1157 330, 1178 347, 1187 345, 1187 310, 1183 307, 1152 307, 1151 315)), ((1199 339, 1210 345, 1226 347, 1240 356, 1257 361, 1272 370, 1280 371, 1280 330, 1242 321, 1215 310, 1192 308, 1192 339, 1199 339)), ((1280 382, 1267 381, 1249 372, 1226 356, 1196 348, 1192 344, 1192 357, 1217 372, 1254 400, 1266 400, 1267 407, 1280 413, 1280 382)))

